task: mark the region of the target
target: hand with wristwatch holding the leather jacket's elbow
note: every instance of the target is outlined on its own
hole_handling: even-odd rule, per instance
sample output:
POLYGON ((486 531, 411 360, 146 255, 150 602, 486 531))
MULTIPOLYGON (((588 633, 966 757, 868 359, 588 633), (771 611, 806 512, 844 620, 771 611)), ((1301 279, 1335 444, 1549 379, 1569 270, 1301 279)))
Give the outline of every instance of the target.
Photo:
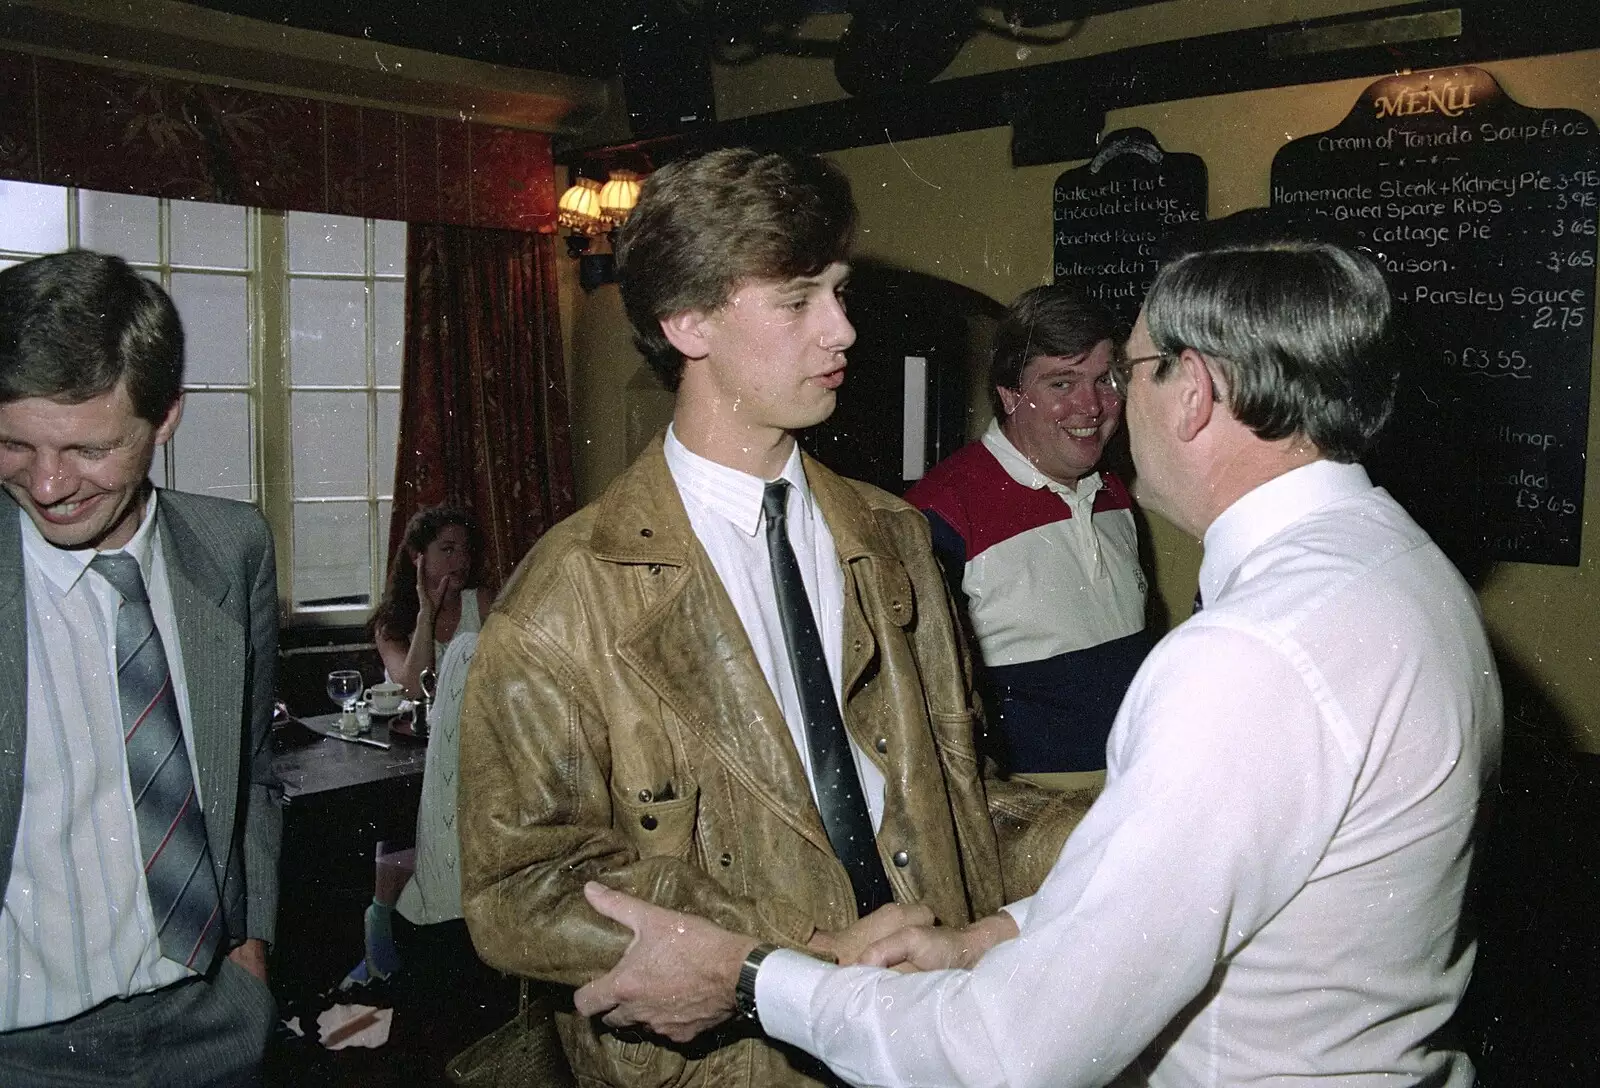
POLYGON ((634 931, 627 952, 610 971, 579 987, 582 1016, 611 1027, 640 1024, 686 1043, 733 1014, 739 965, 758 942, 722 926, 658 907, 590 880, 589 906, 634 931))

